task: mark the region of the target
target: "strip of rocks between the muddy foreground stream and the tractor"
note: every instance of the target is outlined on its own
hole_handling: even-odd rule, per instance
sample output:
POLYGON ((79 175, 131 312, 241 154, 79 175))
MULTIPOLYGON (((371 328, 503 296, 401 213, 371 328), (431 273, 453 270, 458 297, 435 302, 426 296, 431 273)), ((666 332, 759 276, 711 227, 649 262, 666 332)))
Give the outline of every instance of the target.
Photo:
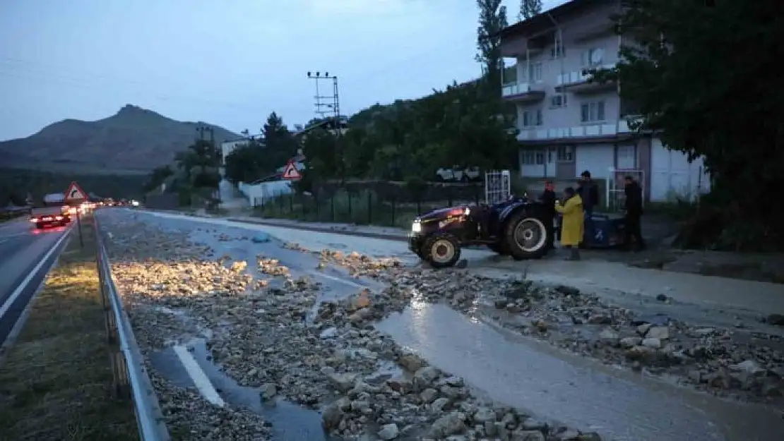
POLYGON ((497 280, 459 269, 405 268, 357 253, 322 251, 321 258, 389 283, 380 309, 401 309, 414 295, 420 301, 447 302, 604 363, 666 374, 720 396, 784 404, 784 339, 775 335, 639 315, 574 287, 497 280))

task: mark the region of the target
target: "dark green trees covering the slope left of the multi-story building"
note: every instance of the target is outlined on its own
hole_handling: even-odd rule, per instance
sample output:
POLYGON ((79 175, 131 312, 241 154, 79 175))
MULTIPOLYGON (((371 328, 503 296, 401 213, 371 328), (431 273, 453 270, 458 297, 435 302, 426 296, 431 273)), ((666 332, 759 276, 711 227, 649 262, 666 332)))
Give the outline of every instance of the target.
MULTIPOLYGON (((417 100, 376 104, 348 121, 343 135, 315 128, 295 139, 277 114, 263 128, 264 143, 227 157, 227 176, 249 182, 274 173, 296 154, 307 156, 306 180, 433 179, 439 167, 506 167, 515 157, 514 112, 499 96, 501 53, 495 34, 506 26, 500 0, 477 0, 477 60, 483 78, 453 82, 417 100), (307 176, 309 175, 309 176, 307 176)), ((312 125, 314 122, 306 126, 312 125)), ((303 183, 304 188, 310 184, 303 183)))

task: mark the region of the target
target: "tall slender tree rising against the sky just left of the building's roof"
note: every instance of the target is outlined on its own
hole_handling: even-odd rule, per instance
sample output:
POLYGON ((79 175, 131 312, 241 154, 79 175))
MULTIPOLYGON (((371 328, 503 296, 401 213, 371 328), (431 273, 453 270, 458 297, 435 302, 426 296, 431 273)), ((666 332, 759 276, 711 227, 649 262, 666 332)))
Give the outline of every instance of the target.
POLYGON ((488 89, 499 93, 501 84, 501 37, 499 32, 507 26, 506 7, 501 0, 477 0, 479 27, 477 27, 476 60, 485 65, 488 89), (495 88, 495 89, 492 89, 495 88))

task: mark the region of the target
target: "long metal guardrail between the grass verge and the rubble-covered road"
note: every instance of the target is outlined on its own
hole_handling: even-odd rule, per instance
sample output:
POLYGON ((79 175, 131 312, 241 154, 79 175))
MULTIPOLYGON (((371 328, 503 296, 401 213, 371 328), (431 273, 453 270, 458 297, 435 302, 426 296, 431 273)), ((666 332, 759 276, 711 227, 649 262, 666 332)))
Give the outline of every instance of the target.
POLYGON ((150 377, 144 369, 143 359, 136 344, 132 327, 117 294, 117 287, 111 277, 111 266, 103 238, 100 235, 98 219, 93 215, 93 225, 97 243, 96 260, 100 277, 100 290, 103 299, 103 314, 106 318, 107 339, 111 345, 111 367, 114 372, 114 392, 118 397, 132 399, 142 441, 169 441, 158 396, 152 387, 150 377))

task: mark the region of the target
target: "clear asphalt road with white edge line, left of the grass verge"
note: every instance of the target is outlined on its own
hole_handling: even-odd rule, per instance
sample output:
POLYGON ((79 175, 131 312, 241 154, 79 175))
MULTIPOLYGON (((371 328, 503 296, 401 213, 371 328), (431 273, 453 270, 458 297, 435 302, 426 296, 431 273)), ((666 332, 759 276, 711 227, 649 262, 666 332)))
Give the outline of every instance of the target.
POLYGON ((0 224, 0 346, 60 254, 67 230, 33 230, 24 219, 0 224))

